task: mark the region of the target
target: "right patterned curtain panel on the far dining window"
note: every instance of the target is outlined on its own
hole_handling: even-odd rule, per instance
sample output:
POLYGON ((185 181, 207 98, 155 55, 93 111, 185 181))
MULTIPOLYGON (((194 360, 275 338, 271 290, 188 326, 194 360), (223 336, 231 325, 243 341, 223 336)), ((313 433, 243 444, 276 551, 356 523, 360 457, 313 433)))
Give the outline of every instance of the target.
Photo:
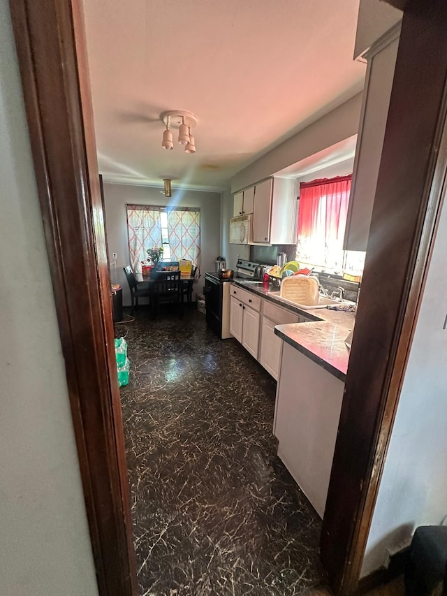
POLYGON ((189 259, 200 267, 200 211, 173 209, 168 213, 170 258, 189 259))

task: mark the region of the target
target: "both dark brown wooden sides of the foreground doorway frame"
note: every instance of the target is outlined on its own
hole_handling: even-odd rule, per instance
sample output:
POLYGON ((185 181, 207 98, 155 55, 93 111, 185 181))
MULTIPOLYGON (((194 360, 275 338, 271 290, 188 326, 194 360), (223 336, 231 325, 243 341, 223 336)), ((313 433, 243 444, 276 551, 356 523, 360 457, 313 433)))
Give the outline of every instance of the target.
MULTIPOLYGON (((404 81, 402 77, 405 73, 408 75, 412 66, 411 63, 410 66, 405 66, 406 61, 409 57, 414 59, 416 55, 409 48, 412 36, 418 31, 417 23, 411 20, 411 11, 414 12, 416 7, 428 10, 429 4, 428 0, 415 0, 406 7, 402 27, 407 23, 404 35, 408 37, 406 45, 401 43, 402 48, 400 45, 397 57, 401 73, 400 85, 404 81)), ((432 2, 432 5, 442 12, 441 0, 432 2)), ((73 428, 98 590, 101 596, 136 596, 129 486, 112 341, 110 279, 96 163, 82 3, 80 0, 10 0, 10 10, 61 345, 66 362, 73 428)), ((443 46, 443 55, 444 49, 443 46)), ((438 70, 433 80, 437 93, 444 98, 445 80, 443 87, 441 78, 441 71, 438 70)), ((404 100, 402 89, 399 91, 394 83, 393 93, 404 100)), ((408 100, 409 98, 406 106, 409 106, 408 100)), ((392 103, 393 101, 396 115, 397 100, 393 100, 392 95, 392 103)), ((351 351, 352 365, 346 379, 346 395, 321 542, 323 562, 330 572, 331 586, 338 594, 352 593, 358 581, 361 557, 379 488, 381 467, 386 457, 386 446, 397 407, 399 379, 402 378, 406 354, 411 345, 411 321, 416 316, 418 296, 423 289, 423 275, 420 272, 413 275, 413 272, 417 262, 416 255, 420 258, 421 270, 427 263, 431 238, 428 232, 434 228, 437 214, 435 207, 439 205, 441 189, 436 187, 434 168, 436 143, 440 138, 442 124, 441 112, 445 115, 444 99, 440 106, 436 122, 430 119, 428 107, 422 113, 415 114, 425 126, 425 134, 431 131, 430 152, 424 156, 424 164, 416 168, 416 186, 420 196, 423 196, 412 220, 418 231, 418 238, 416 242, 416 237, 412 237, 413 241, 406 245, 406 261, 404 256, 400 261, 404 265, 402 275, 406 277, 403 279, 401 275, 400 286, 393 290, 392 310, 384 321, 382 330, 388 334, 388 343, 381 351, 381 357, 386 358, 388 363, 381 371, 382 377, 372 379, 374 407, 369 410, 368 419, 361 417, 355 402, 361 391, 359 384, 365 380, 365 367, 356 368, 354 365, 362 356, 367 356, 369 350, 368 340, 360 339, 359 328, 372 333, 367 317, 362 318, 360 313, 362 310, 369 312, 369 307, 374 309, 378 298, 376 291, 371 296, 365 294, 365 288, 371 288, 375 283, 373 253, 367 258, 362 284, 364 293, 360 298, 360 326, 356 326, 357 333, 351 351), (429 221, 426 220, 426 212, 430 196, 432 210, 428 214, 431 218, 429 221), (350 423, 353 416, 358 415, 365 425, 360 437, 363 440, 356 443, 361 443, 361 465, 358 462, 355 465, 353 444, 350 443, 350 423), (346 451, 349 445, 351 449, 346 451), (346 454, 353 464, 355 480, 350 498, 346 498, 346 491, 340 492, 340 486, 344 486, 346 480, 346 464, 343 460, 346 454), (344 527, 340 521, 345 523, 344 527), (331 559, 334 553, 337 556, 331 559)), ((402 136, 392 134, 395 132, 391 126, 393 117, 390 117, 389 124, 384 145, 388 158, 402 146, 402 136)), ((415 154, 416 150, 413 150, 413 159, 415 154)), ((397 184, 391 184, 390 190, 391 179, 390 168, 387 167, 386 159, 383 159, 378 189, 383 190, 387 186, 388 203, 383 198, 376 201, 372 231, 383 224, 387 210, 393 205, 393 197, 402 191, 397 184)), ((412 196, 414 198, 414 194, 412 196)), ((376 247, 372 246, 372 249, 375 251, 376 247)), ((394 283, 395 279, 385 272, 382 282, 386 286, 394 283)), ((383 287, 381 285, 382 291, 383 287)), ((376 321, 375 324, 377 328, 376 321)))

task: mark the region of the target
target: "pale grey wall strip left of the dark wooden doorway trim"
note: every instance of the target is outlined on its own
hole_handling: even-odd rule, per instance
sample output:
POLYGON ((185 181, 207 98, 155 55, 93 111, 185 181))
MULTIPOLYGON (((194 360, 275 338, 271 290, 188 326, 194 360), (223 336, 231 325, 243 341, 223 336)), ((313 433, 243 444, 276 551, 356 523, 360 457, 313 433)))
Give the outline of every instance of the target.
POLYGON ((7 0, 0 0, 0 592, 96 579, 7 0))

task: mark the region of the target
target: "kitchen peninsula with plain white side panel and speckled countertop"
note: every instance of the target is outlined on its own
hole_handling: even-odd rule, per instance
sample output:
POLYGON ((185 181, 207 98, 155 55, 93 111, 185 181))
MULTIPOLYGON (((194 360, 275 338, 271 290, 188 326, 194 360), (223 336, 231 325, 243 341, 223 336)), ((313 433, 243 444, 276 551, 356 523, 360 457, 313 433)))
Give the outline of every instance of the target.
MULTIPOLYGON (((268 295, 276 290, 272 284, 243 279, 234 279, 233 283, 297 315, 288 320, 309 321, 270 322, 269 346, 282 340, 273 432, 278 439, 279 458, 323 518, 349 362, 344 340, 356 315, 288 305, 268 295)), ((270 304, 263 303, 262 320, 266 306, 270 304)))

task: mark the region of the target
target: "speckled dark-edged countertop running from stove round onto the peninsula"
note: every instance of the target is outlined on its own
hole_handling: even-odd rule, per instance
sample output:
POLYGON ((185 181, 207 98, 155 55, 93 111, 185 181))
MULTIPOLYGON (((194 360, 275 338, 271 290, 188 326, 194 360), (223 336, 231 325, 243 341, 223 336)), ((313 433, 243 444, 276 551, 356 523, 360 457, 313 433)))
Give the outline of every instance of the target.
POLYGON ((344 340, 353 328, 356 319, 355 313, 328 310, 327 308, 302 310, 268 296, 268 292, 274 291, 271 284, 254 284, 240 279, 235 279, 234 282, 244 289, 271 300, 281 308, 314 319, 309 323, 278 325, 275 327, 275 333, 281 337, 281 340, 291 344, 338 379, 342 381, 346 379, 349 348, 346 347, 344 340))

